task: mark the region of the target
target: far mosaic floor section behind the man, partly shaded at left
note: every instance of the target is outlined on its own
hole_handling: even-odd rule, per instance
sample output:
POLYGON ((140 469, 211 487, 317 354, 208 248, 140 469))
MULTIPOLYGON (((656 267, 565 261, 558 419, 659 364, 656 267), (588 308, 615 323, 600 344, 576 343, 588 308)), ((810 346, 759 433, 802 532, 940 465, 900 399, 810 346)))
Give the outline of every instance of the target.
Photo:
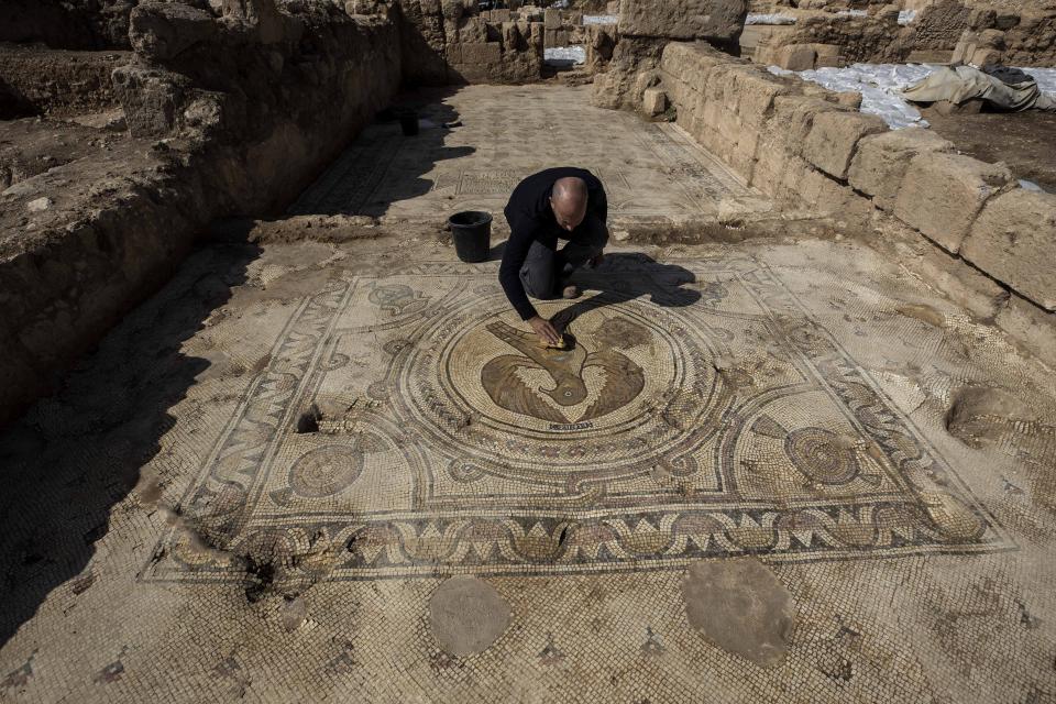
POLYGON ((417 136, 396 123, 367 128, 292 211, 429 221, 499 213, 521 178, 566 164, 602 179, 615 222, 714 216, 724 200, 761 198, 680 128, 593 108, 587 95, 588 87, 470 86, 426 107, 417 136))

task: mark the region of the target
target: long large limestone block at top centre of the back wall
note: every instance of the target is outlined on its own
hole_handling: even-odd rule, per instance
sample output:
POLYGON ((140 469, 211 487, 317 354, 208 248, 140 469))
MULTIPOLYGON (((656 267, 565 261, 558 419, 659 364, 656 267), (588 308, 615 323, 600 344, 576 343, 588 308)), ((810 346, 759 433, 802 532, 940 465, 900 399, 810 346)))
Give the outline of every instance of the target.
POLYGON ((619 32, 679 40, 736 40, 747 0, 620 0, 619 32))

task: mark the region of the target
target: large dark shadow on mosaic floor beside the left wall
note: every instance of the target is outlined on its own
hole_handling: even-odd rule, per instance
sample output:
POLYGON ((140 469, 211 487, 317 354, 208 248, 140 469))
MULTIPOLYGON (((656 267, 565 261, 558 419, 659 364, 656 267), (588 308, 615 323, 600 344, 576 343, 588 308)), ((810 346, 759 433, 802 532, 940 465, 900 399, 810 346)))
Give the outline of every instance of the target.
MULTIPOLYGON (((146 528, 143 513, 114 506, 133 488, 147 507, 161 497, 166 477, 145 483, 141 470, 165 451, 161 440, 175 425, 168 409, 211 364, 184 354, 183 343, 245 282, 258 254, 238 238, 193 253, 59 392, 0 432, 0 646, 52 592, 72 598, 92 588, 90 563, 108 531, 146 528)), ((144 542, 133 554, 145 563, 152 549, 144 542)))

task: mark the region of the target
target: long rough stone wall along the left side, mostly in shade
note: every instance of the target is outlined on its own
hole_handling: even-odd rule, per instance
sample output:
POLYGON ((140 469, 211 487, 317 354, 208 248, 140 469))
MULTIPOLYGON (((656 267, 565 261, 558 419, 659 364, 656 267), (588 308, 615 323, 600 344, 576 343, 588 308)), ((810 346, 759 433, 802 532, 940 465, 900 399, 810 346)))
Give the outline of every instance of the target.
POLYGON ((207 222, 284 207, 399 86, 396 24, 327 3, 147 2, 131 28, 135 62, 113 76, 130 142, 0 194, 0 422, 164 284, 207 222))

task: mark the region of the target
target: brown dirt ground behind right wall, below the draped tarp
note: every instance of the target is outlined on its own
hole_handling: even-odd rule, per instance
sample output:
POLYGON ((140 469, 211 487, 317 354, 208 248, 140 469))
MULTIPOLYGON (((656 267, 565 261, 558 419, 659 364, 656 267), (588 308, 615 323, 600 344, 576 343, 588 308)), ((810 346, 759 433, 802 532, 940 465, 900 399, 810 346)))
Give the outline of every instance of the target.
POLYGON ((1056 113, 928 114, 932 130, 985 162, 1004 162, 1018 178, 1056 193, 1056 113))

